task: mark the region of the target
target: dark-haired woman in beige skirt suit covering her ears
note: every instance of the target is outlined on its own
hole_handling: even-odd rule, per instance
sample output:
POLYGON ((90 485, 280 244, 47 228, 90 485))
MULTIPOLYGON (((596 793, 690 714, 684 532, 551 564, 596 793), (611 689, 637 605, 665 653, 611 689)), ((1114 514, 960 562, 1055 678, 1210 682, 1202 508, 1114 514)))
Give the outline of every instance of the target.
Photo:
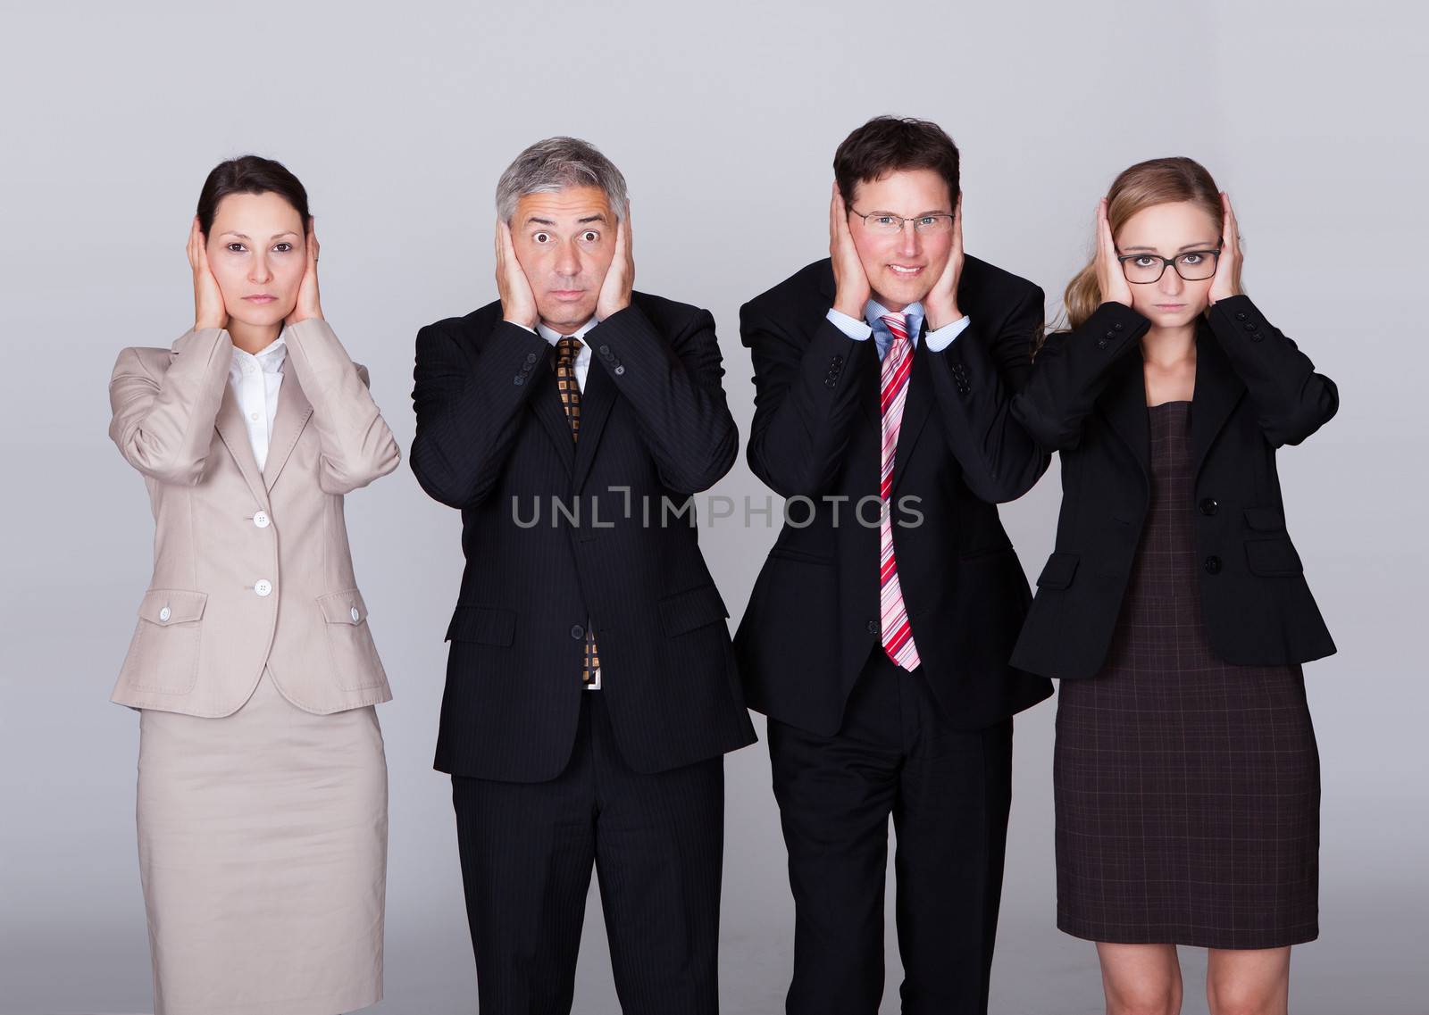
POLYGON ((126 348, 110 437, 154 572, 113 700, 140 710, 156 1015, 336 1015, 382 998, 387 678, 343 495, 397 444, 323 320, 303 184, 244 156, 189 236, 196 320, 126 348))

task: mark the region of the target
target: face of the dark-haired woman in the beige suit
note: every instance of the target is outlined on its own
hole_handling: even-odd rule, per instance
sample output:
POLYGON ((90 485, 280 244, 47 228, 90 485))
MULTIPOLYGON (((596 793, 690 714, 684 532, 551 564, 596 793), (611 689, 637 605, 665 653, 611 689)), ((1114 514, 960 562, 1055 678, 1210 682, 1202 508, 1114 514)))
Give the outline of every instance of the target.
POLYGON ((293 313, 307 251, 303 217, 286 198, 224 197, 209 227, 207 253, 229 317, 269 327, 293 313))

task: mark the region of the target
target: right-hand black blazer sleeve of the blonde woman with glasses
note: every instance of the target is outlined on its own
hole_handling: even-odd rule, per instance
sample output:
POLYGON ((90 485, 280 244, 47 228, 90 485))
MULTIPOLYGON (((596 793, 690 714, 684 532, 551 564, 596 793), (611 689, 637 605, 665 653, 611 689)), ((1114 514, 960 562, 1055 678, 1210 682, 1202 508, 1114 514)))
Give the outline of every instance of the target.
POLYGON ((1335 381, 1315 373, 1310 358, 1266 321, 1250 297, 1218 300, 1209 320, 1275 447, 1299 444, 1330 421, 1339 410, 1335 381))

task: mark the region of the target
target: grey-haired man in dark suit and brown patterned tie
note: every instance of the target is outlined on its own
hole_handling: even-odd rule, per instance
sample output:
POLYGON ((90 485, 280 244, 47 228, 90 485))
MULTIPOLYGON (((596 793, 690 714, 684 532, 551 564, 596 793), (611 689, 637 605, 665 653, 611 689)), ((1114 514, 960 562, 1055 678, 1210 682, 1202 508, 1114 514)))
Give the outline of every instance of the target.
POLYGON ((623 1011, 713 1014, 723 754, 755 739, 690 504, 739 450, 714 320, 632 291, 590 144, 533 144, 496 200, 500 300, 422 328, 412 395, 467 561, 436 768, 480 1011, 570 1011, 594 865, 623 1011))

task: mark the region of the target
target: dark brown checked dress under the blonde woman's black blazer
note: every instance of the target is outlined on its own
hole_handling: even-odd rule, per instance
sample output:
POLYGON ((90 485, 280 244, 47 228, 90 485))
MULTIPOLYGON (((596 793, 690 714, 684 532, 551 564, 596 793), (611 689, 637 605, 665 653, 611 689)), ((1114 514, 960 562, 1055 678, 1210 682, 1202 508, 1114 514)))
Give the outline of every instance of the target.
POLYGON ((1300 667, 1212 652, 1190 403, 1147 413, 1150 510, 1112 647, 1057 698, 1057 926, 1123 944, 1312 941, 1320 782, 1300 667))

